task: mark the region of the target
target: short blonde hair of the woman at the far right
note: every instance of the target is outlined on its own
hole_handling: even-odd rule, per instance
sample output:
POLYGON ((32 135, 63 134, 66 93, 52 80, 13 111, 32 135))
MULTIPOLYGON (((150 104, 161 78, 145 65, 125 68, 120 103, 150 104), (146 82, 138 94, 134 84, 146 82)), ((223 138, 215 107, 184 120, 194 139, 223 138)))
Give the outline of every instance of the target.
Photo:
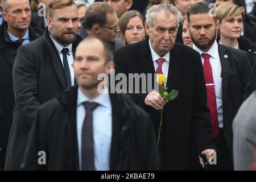
POLYGON ((220 23, 225 22, 226 20, 238 15, 242 15, 242 19, 244 19, 244 15, 240 7, 232 2, 222 3, 217 7, 216 11, 217 19, 220 21, 220 23))

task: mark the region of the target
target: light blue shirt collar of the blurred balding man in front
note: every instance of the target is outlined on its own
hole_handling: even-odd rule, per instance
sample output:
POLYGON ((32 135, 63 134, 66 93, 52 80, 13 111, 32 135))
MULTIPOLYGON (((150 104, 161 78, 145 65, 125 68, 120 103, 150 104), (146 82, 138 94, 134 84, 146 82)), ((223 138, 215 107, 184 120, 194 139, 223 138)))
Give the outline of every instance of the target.
POLYGON ((84 93, 80 90, 80 88, 77 89, 77 106, 80 106, 83 102, 89 101, 89 102, 96 102, 97 104, 104 106, 104 107, 111 107, 110 102, 110 96, 109 96, 109 90, 105 89, 104 93, 101 93, 99 96, 94 98, 93 100, 90 100, 87 96, 85 96, 84 93))

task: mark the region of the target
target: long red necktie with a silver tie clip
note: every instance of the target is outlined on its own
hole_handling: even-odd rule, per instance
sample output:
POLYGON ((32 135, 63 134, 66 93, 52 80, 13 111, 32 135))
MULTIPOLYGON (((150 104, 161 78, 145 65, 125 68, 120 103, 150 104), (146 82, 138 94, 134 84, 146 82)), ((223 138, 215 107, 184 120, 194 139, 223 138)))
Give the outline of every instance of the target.
POLYGON ((218 113, 216 96, 214 90, 214 82, 212 75, 212 67, 210 66, 210 55, 208 53, 202 53, 204 58, 204 78, 207 88, 207 106, 210 109, 210 120, 212 121, 212 138, 216 138, 219 132, 218 128, 218 113))

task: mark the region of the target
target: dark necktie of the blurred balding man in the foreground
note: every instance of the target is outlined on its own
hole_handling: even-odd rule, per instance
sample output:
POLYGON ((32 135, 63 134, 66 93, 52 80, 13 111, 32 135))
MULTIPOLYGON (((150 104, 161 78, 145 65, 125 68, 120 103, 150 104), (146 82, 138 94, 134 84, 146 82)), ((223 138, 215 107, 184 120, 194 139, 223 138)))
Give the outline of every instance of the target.
POLYGON ((95 102, 84 102, 83 105, 86 115, 82 125, 82 171, 94 171, 93 110, 98 104, 95 102))

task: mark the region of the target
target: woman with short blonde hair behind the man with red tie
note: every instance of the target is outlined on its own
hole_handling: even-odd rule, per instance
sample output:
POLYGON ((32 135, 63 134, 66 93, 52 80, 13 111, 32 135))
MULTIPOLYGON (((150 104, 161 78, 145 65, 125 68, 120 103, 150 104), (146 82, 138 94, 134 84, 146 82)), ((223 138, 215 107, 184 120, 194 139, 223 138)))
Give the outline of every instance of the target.
POLYGON ((251 65, 256 60, 256 44, 241 35, 244 14, 237 5, 231 2, 222 3, 217 7, 219 43, 247 52, 251 65))

